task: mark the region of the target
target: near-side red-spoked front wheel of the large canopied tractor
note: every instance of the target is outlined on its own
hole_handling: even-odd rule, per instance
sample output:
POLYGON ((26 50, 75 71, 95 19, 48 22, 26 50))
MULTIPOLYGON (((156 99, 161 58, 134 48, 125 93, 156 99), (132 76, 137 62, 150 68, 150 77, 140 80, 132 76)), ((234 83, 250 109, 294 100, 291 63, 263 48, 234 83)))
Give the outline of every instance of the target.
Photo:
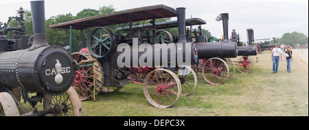
POLYGON ((155 107, 166 108, 174 105, 181 96, 181 82, 168 69, 155 69, 144 80, 144 94, 155 107))

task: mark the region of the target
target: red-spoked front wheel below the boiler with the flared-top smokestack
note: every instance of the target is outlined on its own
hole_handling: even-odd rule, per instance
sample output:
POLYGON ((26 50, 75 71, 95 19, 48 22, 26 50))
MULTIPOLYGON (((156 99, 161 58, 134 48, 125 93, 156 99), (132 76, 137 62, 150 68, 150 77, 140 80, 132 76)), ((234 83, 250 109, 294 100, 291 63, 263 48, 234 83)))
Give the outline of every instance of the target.
POLYGON ((209 58, 202 67, 202 74, 207 83, 220 85, 229 76, 229 66, 221 58, 209 58))

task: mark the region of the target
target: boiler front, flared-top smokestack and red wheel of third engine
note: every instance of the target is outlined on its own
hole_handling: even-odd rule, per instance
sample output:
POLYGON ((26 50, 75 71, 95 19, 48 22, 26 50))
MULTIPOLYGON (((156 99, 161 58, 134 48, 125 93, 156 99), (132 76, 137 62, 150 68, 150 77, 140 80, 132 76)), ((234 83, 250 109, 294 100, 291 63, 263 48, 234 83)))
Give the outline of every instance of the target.
POLYGON ((235 41, 229 41, 228 39, 229 14, 222 13, 216 20, 222 20, 223 41, 211 43, 196 42, 198 58, 202 60, 206 59, 202 63, 203 77, 207 83, 211 85, 219 85, 227 80, 227 78, 231 77, 233 71, 229 71, 229 65, 231 65, 231 69, 233 69, 233 62, 228 59, 237 57, 238 53, 237 43, 235 41))

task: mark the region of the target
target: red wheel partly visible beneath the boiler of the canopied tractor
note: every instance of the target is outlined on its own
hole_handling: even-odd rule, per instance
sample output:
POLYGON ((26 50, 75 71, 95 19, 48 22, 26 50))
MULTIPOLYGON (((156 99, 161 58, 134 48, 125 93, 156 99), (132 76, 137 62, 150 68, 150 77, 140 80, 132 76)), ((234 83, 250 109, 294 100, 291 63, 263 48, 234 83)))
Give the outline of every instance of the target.
POLYGON ((130 72, 132 75, 129 75, 128 78, 133 82, 137 84, 143 84, 144 79, 147 74, 152 72, 152 70, 155 70, 155 67, 130 67, 130 72), (138 77, 138 78, 137 78, 138 77))

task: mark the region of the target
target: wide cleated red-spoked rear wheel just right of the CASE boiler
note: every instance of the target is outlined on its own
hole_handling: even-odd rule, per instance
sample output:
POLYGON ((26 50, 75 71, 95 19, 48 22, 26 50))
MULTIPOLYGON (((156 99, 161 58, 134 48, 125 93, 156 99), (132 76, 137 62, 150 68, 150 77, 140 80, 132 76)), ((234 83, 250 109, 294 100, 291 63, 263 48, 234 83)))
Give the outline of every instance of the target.
MULTIPOLYGON (((87 62, 89 60, 93 60, 91 54, 86 52, 75 52, 72 54, 72 57, 79 64, 83 64, 82 62, 84 61, 87 62)), ((96 60, 93 65, 82 66, 76 70, 76 77, 73 80, 72 87, 74 87, 78 92, 80 100, 90 100, 93 98, 94 88, 95 94, 99 94, 102 89, 104 76, 101 65, 96 60), (95 65, 95 69, 93 69, 93 65, 95 65)))

